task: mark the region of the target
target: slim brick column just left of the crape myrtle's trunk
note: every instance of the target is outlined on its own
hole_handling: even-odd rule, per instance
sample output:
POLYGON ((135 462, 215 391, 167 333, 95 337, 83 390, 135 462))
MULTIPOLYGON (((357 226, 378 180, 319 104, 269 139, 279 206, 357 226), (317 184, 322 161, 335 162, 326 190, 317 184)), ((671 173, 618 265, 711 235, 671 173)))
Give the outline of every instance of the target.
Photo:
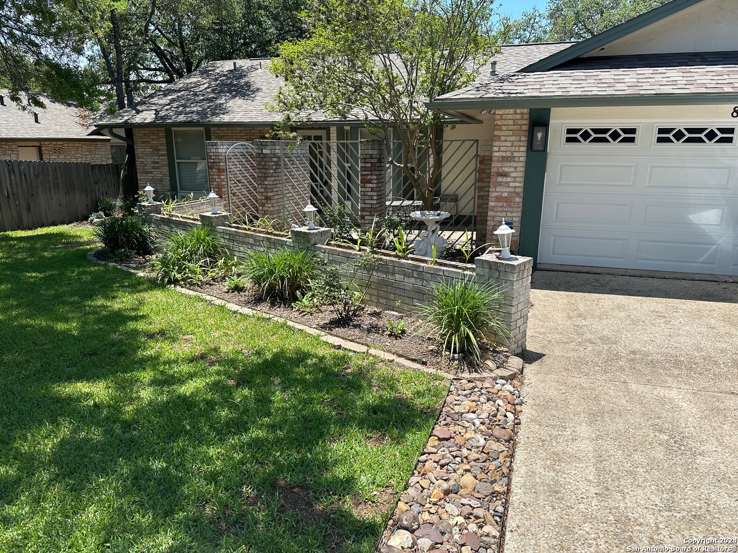
POLYGON ((359 142, 359 224, 362 229, 370 227, 375 217, 384 217, 386 193, 387 150, 384 140, 362 140, 359 142))

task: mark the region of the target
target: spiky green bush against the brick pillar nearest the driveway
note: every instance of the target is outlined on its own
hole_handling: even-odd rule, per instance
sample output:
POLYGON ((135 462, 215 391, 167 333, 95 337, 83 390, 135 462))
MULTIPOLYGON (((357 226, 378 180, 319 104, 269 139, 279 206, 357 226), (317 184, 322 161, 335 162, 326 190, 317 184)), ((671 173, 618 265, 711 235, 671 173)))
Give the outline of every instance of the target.
POLYGON ((444 341, 444 349, 480 358, 479 341, 486 330, 506 335, 497 307, 500 288, 474 280, 442 281, 433 286, 434 299, 421 313, 430 333, 444 341))

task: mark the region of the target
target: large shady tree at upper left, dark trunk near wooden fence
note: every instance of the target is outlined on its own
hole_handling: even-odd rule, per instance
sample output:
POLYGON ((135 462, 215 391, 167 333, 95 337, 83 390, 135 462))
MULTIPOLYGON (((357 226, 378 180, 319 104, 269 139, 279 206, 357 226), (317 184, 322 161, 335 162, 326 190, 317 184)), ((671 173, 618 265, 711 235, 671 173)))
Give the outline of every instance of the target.
MULTIPOLYGON (((0 86, 110 112, 210 60, 271 56, 302 34, 302 0, 0 0, 0 86)), ((21 94, 25 93, 25 94, 21 94)), ((131 129, 125 130, 128 142, 131 129)), ((126 147, 121 188, 137 192, 126 147)))

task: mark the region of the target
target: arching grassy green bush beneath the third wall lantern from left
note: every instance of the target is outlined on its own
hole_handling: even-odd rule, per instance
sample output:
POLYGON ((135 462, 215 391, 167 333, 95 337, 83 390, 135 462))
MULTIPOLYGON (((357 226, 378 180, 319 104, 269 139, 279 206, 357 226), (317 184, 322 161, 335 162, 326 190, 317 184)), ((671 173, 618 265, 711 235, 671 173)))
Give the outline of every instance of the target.
POLYGON ((312 251, 280 248, 269 251, 249 251, 241 263, 241 274, 255 285, 263 299, 294 302, 297 292, 310 286, 319 257, 312 251))

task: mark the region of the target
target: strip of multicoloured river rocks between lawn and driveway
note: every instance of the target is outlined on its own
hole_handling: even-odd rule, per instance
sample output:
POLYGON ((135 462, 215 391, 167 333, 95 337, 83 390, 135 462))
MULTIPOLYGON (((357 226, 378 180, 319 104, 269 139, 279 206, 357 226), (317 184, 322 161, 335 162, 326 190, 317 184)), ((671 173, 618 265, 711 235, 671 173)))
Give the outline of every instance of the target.
POLYGON ((520 378, 452 381, 377 551, 500 551, 521 384, 520 378))

